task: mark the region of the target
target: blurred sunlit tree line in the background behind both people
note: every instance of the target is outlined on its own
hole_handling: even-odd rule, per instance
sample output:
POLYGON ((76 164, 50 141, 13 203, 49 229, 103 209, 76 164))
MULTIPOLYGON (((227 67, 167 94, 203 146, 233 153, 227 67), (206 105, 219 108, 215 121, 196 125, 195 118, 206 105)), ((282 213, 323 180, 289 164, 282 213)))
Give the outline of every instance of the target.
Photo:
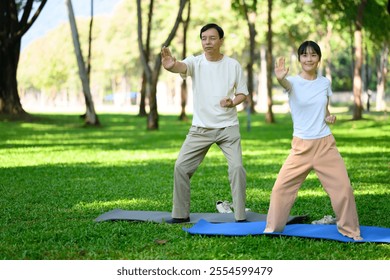
MULTIPOLYGON (((26 114, 19 96, 27 91, 48 98, 77 96, 82 91, 69 24, 20 53, 20 39, 45 2, 0 1, 0 114, 26 114), (35 14, 33 3, 40 5, 35 14)), ((199 29, 207 22, 217 22, 225 29, 224 53, 245 67, 251 91, 247 106, 252 106, 253 113, 254 102, 267 95, 267 111, 272 114, 276 81, 270 65, 278 56, 289 56, 290 71, 297 71, 296 48, 307 39, 321 45, 321 71, 332 80, 333 90, 353 92, 354 119, 362 117, 361 95, 367 90, 377 93, 376 109, 385 110, 388 0, 123 0, 109 17, 94 17, 89 79, 93 97, 122 90, 141 92, 140 115, 148 116, 148 129, 158 129, 155 87, 159 79, 172 79, 169 73, 160 72, 159 50, 168 44, 178 59, 200 53, 199 29)), ((77 27, 82 53, 88 54, 89 19, 78 18, 77 27)), ((182 119, 185 92, 184 86, 182 119)))

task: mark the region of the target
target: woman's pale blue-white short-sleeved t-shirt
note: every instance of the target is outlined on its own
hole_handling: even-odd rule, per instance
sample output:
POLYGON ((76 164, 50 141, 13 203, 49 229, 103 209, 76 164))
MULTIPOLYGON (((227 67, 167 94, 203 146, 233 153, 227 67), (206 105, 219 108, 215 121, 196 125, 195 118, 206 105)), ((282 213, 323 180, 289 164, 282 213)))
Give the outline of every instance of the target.
POLYGON ((315 80, 305 80, 289 76, 291 84, 289 105, 294 124, 293 136, 301 139, 318 139, 332 132, 325 122, 328 98, 332 95, 329 79, 318 76, 315 80))

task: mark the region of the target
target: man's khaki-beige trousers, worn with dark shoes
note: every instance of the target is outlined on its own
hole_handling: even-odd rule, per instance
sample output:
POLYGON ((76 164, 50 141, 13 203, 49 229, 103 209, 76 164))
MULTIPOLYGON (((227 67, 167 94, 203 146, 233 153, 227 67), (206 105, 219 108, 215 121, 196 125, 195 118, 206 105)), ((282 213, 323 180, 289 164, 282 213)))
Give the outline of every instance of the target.
POLYGON ((189 217, 190 179, 214 143, 220 147, 228 162, 235 219, 245 220, 246 172, 242 164, 238 125, 220 129, 190 128, 175 163, 173 218, 189 217))

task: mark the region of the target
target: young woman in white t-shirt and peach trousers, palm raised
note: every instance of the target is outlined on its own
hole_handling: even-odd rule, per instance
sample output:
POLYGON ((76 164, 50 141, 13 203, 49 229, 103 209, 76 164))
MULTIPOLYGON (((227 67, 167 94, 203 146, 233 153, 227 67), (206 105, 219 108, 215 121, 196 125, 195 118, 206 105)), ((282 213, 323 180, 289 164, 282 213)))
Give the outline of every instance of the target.
POLYGON ((330 197, 341 234, 361 240, 355 198, 343 159, 328 126, 336 121, 328 109, 332 95, 330 81, 317 75, 321 49, 313 41, 298 48, 302 71, 287 76, 285 59, 275 63, 275 75, 289 96, 293 120, 291 152, 272 189, 264 232, 283 231, 298 190, 314 170, 330 197))

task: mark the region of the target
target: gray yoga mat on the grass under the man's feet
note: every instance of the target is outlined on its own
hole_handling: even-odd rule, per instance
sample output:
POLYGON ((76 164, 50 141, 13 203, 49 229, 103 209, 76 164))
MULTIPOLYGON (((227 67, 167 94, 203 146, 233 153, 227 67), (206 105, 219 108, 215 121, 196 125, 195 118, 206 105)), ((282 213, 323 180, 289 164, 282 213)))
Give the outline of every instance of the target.
MULTIPOLYGON (((303 216, 290 216, 288 224, 300 223, 307 218, 307 215, 303 216)), ((138 221, 138 222, 156 222, 163 223, 166 220, 171 219, 171 212, 161 211, 130 211, 122 209, 114 209, 106 213, 101 214, 95 219, 95 222, 104 221, 138 221)), ((234 213, 191 213, 191 224, 197 223, 199 220, 206 220, 210 223, 229 223, 235 222, 234 213)), ((248 222, 265 221, 267 215, 258 214, 255 212, 247 212, 246 219, 248 222)))

